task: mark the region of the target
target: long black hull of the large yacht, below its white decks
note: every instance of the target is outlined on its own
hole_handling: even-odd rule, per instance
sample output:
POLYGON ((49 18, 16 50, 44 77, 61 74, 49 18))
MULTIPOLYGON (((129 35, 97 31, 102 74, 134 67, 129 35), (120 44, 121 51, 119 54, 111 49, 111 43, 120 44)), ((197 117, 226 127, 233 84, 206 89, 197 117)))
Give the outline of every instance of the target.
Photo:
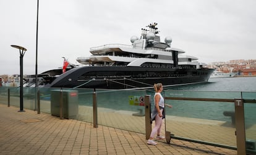
POLYGON ((61 74, 45 87, 88 89, 137 89, 207 82, 213 69, 143 68, 129 66, 82 66, 61 74))

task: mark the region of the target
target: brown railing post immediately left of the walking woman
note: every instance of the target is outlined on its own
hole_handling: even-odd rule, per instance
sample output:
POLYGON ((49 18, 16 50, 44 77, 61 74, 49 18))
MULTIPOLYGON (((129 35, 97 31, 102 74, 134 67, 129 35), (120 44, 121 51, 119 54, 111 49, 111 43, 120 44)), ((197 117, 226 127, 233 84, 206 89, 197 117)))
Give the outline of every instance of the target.
POLYGON ((152 130, 151 122, 151 104, 150 95, 145 95, 145 129, 146 129, 146 140, 150 138, 150 133, 152 130))

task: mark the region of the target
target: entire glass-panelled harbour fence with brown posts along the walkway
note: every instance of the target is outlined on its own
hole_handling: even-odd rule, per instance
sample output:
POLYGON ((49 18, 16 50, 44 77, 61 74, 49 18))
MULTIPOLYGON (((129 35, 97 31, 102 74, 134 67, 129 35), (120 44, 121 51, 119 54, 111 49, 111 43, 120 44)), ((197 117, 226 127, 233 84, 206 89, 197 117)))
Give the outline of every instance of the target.
MULTIPOLYGON (((91 122, 143 133, 149 138, 154 122, 151 90, 104 90, 24 87, 25 109, 61 119, 91 122)), ((164 90, 163 133, 171 139, 237 149, 237 154, 256 154, 256 92, 164 90)), ((0 103, 19 107, 19 87, 0 87, 0 103)))

